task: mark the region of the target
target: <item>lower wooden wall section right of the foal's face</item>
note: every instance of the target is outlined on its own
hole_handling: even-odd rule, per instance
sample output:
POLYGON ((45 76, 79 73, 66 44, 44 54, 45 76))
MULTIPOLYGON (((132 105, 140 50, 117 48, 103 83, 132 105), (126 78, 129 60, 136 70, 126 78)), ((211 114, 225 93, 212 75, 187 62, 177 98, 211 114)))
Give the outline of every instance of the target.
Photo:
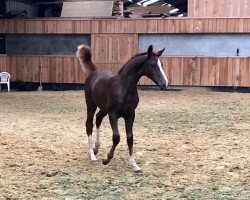
POLYGON ((165 57, 171 85, 250 86, 250 57, 165 57))

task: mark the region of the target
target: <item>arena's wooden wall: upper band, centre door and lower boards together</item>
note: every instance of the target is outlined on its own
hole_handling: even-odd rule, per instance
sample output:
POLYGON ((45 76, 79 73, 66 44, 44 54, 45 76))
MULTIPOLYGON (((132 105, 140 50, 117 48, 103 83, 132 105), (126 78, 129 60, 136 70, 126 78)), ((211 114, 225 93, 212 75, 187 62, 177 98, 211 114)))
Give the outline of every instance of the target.
MULTIPOLYGON (((95 64, 114 73, 138 52, 143 33, 250 33, 250 18, 167 19, 18 19, 0 20, 1 34, 91 34, 95 64)), ((162 57, 170 85, 248 86, 250 57, 162 57)), ((0 71, 12 81, 84 83, 85 74, 75 56, 0 56, 0 71)), ((142 78, 140 84, 152 84, 142 78)))

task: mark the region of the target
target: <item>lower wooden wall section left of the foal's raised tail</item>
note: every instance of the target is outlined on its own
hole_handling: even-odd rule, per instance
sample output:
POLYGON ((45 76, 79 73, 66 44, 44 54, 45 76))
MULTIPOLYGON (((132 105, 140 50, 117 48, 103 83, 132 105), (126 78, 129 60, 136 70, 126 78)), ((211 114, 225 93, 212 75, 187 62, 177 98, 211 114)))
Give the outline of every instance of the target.
POLYGON ((86 76, 72 56, 8 56, 7 69, 12 81, 39 82, 39 65, 42 79, 47 83, 83 83, 86 76))

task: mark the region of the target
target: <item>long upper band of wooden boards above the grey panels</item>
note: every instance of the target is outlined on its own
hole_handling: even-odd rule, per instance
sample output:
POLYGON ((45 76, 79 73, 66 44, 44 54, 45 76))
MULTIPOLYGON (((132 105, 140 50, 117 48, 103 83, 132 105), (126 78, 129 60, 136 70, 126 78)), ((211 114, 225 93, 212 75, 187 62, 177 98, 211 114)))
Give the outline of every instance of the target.
POLYGON ((1 19, 6 34, 247 33, 250 18, 1 19))

